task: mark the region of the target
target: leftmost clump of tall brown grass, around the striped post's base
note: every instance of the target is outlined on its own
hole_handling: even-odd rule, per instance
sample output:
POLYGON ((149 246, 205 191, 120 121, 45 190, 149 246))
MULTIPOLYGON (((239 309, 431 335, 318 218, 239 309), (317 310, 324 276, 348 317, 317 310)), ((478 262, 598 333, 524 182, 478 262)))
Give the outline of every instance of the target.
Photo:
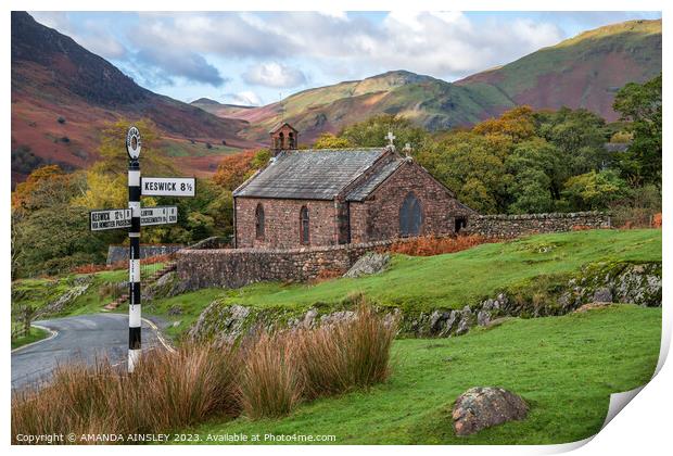
POLYGON ((143 356, 132 375, 106 359, 59 366, 49 384, 14 393, 13 443, 20 433, 153 433, 237 415, 239 362, 227 347, 186 344, 143 356))

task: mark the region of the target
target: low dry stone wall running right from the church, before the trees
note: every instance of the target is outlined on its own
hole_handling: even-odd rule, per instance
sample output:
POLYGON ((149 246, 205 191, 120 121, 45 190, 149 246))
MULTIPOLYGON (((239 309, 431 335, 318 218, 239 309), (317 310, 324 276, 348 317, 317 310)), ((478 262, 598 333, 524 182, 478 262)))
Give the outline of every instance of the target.
POLYGON ((610 228, 610 216, 600 212, 548 213, 523 215, 481 215, 471 217, 465 233, 496 238, 516 238, 542 232, 610 228))

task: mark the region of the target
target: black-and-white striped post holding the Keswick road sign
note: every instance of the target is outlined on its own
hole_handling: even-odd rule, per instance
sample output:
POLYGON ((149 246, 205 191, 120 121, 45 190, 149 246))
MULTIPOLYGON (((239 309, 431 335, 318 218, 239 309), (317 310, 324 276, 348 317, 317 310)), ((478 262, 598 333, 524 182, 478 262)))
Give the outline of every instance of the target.
POLYGON ((128 371, 132 372, 140 357, 140 163, 128 162, 128 207, 131 227, 128 261, 128 371))

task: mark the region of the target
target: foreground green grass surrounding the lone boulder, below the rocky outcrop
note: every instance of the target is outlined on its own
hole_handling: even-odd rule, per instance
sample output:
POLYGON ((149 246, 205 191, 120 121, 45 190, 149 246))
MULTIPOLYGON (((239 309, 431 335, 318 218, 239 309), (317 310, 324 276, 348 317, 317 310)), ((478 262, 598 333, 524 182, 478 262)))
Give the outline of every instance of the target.
POLYGON ((391 380, 300 406, 291 416, 208 422, 201 434, 331 434, 338 444, 550 444, 596 433, 611 393, 647 382, 661 309, 618 305, 584 314, 511 319, 452 339, 398 340, 391 380), (529 417, 468 438, 453 433, 455 398, 475 385, 522 395, 529 417))

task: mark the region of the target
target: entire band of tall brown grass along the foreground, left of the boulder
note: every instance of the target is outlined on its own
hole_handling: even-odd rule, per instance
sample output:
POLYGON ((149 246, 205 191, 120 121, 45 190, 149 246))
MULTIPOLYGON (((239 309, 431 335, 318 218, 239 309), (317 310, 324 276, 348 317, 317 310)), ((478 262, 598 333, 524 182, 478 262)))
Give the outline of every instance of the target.
POLYGON ((60 366, 48 384, 12 396, 17 434, 160 433, 216 416, 280 417, 297 404, 384 381, 397 322, 361 302, 318 329, 261 333, 240 345, 185 342, 131 375, 106 359, 60 366))

